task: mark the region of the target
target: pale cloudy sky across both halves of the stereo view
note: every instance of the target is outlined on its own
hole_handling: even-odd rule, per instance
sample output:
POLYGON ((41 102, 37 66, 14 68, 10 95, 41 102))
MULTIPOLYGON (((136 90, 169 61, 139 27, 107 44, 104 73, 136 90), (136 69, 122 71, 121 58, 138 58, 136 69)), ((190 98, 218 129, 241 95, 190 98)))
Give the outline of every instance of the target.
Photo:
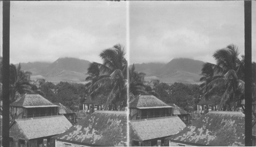
MULTIPOLYGON (((230 43, 244 54, 243 1, 14 1, 10 13, 11 63, 61 57, 101 62, 99 54, 117 43, 126 47, 130 64, 174 58, 215 63, 212 55, 230 43)), ((252 61, 255 14, 252 2, 252 61)))

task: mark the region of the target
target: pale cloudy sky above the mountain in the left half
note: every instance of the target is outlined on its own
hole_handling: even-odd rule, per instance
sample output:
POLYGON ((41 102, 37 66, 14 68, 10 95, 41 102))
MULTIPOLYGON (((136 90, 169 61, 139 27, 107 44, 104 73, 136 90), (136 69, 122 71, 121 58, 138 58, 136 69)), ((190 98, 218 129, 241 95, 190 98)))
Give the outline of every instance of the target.
POLYGON ((101 62, 102 50, 126 45, 125 2, 11 2, 10 62, 60 57, 101 62))

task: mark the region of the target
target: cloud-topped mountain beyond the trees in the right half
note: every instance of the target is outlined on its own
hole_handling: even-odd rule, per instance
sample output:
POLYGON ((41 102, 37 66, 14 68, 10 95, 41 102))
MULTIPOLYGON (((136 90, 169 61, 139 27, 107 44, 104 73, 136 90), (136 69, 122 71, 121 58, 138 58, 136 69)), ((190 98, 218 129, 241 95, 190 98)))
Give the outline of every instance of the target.
POLYGON ((165 83, 199 83, 204 62, 199 60, 177 58, 167 64, 142 63, 135 64, 135 70, 146 74, 145 80, 160 80, 165 83))

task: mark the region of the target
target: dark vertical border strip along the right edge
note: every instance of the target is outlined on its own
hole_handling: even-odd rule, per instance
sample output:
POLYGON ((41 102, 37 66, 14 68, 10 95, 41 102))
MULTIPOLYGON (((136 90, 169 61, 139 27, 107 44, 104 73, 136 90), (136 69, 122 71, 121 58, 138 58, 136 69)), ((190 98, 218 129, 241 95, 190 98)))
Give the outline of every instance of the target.
POLYGON ((251 1, 244 1, 245 50, 245 146, 252 146, 251 93, 251 1))

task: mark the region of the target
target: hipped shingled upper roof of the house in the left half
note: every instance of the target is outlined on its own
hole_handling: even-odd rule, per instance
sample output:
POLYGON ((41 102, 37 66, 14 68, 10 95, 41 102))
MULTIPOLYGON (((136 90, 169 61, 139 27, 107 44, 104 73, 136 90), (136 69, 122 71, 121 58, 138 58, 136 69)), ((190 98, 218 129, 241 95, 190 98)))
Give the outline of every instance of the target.
POLYGON ((10 106, 25 108, 58 107, 39 94, 24 94, 19 100, 13 102, 10 106))

